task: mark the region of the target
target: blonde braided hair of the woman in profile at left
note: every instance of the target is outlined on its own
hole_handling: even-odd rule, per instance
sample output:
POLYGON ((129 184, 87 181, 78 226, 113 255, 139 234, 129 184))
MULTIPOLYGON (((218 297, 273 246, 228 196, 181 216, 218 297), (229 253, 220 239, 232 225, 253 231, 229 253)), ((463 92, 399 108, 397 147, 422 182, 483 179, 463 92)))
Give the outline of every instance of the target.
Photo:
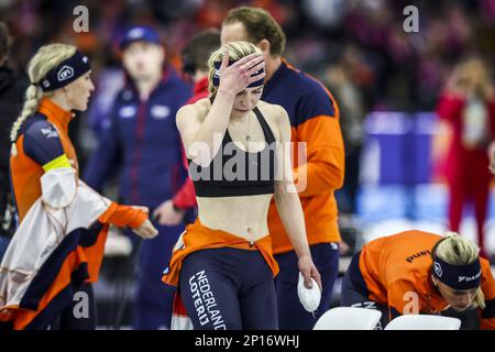
POLYGON ((48 44, 40 47, 36 54, 28 64, 28 76, 31 85, 25 91, 24 106, 21 114, 18 117, 10 131, 10 141, 15 143, 19 130, 24 121, 32 116, 40 105, 43 97, 51 96, 53 92, 44 92, 40 87, 41 80, 45 75, 64 59, 69 58, 76 53, 76 47, 68 44, 48 44))

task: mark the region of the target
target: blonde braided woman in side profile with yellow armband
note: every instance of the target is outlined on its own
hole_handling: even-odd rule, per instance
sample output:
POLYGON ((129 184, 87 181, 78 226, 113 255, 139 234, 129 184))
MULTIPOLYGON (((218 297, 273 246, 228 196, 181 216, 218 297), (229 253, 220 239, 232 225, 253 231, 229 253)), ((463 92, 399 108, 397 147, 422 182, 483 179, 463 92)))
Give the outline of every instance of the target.
POLYGON ((28 74, 31 85, 10 135, 20 227, 0 267, 0 321, 14 329, 95 329, 91 283, 109 224, 143 238, 156 230, 145 208, 117 205, 78 178, 68 124, 95 90, 88 57, 72 45, 45 45, 28 74), (89 314, 75 316, 77 297, 89 299, 89 314))

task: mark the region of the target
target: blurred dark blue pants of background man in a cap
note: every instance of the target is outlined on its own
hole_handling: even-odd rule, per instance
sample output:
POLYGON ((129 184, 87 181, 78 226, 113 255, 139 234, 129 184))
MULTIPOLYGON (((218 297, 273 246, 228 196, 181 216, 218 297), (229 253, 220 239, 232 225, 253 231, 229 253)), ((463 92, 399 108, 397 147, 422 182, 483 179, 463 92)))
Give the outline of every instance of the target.
POLYGON ((142 240, 136 264, 136 295, 132 317, 133 329, 169 329, 174 302, 174 286, 162 282, 172 249, 184 231, 184 226, 162 227, 154 223, 158 235, 142 240))

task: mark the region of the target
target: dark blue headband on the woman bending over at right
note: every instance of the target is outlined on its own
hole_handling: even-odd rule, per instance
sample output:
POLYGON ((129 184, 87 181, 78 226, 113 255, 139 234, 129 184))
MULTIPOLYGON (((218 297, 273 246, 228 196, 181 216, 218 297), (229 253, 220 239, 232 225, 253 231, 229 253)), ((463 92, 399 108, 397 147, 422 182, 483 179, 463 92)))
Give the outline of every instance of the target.
POLYGON ((476 288, 481 283, 480 258, 466 265, 452 265, 435 256, 433 276, 454 289, 476 288))

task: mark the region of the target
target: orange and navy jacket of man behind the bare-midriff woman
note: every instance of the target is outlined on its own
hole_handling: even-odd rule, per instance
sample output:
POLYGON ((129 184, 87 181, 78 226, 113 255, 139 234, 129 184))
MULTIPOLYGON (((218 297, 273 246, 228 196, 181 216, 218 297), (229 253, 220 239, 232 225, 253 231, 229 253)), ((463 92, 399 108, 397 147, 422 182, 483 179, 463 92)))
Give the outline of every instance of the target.
MULTIPOLYGON (((343 185, 344 144, 336 100, 321 82, 285 59, 265 84, 262 100, 284 107, 290 120, 294 180, 309 244, 340 242, 333 193, 343 185), (298 153, 305 151, 306 162, 299 164, 298 153)), ((268 228, 275 254, 294 250, 274 201, 268 210, 268 228)))

